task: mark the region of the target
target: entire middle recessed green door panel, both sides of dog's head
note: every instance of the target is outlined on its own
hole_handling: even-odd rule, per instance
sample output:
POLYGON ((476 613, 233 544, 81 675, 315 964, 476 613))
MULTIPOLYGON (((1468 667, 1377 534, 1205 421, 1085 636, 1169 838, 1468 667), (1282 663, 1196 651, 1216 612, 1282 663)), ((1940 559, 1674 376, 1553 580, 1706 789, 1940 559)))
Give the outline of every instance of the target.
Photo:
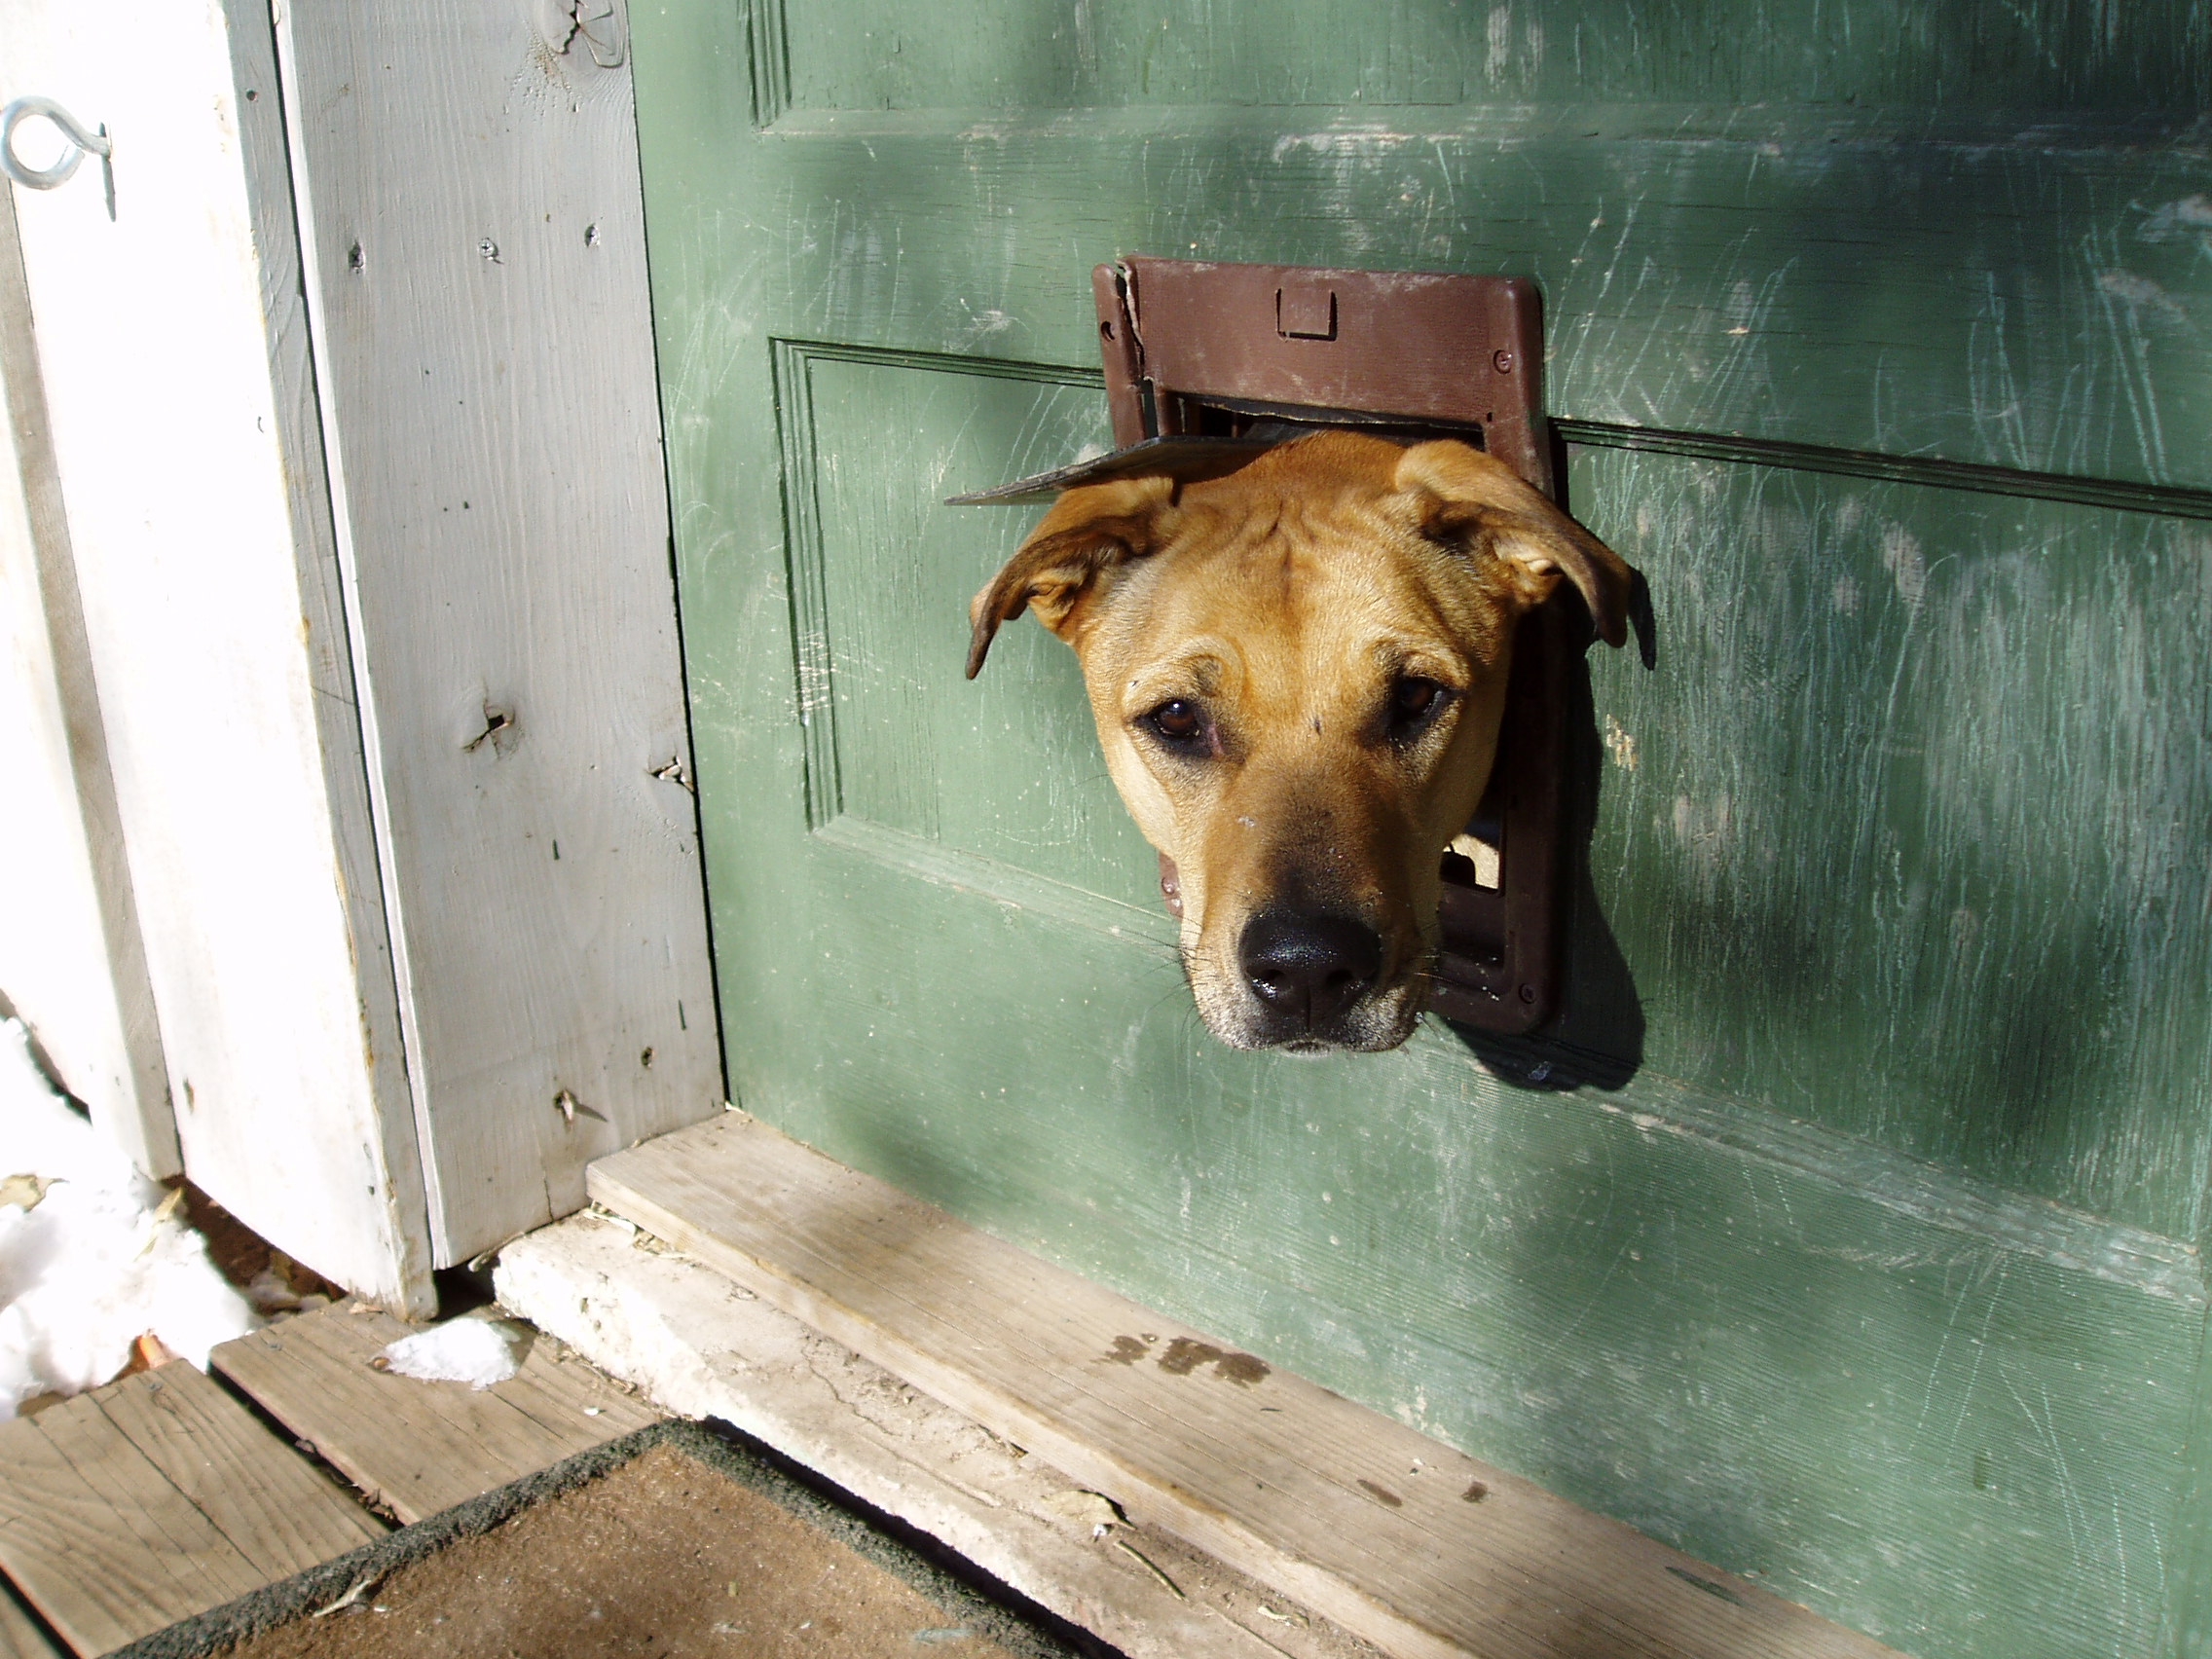
MULTIPOLYGON (((960 677, 967 599, 1035 513, 940 507, 1110 442, 1095 380, 810 345, 779 365, 814 515, 792 553, 816 827, 1146 927, 1152 860, 1073 655, 1015 628, 960 677)), ((1648 1024, 1615 1057, 2197 1237, 2212 526, 1604 449, 1571 491, 1666 597, 1668 672, 1593 664, 1590 858, 1648 1024)))

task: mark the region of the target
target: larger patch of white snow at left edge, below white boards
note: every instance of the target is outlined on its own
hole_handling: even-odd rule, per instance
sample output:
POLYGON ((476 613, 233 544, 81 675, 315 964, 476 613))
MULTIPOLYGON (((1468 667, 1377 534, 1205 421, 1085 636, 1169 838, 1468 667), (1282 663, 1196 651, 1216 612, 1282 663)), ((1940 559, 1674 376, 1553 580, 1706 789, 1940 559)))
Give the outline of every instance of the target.
POLYGON ((46 1086, 22 1022, 0 1020, 0 1418, 108 1383, 148 1332, 206 1369, 261 1323, 179 1201, 46 1086))

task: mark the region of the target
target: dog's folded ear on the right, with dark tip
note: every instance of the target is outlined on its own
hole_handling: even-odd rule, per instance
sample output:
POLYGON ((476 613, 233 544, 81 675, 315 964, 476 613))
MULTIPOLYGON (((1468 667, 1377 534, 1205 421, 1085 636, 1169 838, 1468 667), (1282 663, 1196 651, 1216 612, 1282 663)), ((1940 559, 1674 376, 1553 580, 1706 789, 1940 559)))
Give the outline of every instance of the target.
POLYGON ((1440 438, 1405 451, 1396 484, 1416 498, 1422 535, 1504 560, 1531 606, 1564 575, 1590 608, 1597 637, 1628 641, 1637 573, 1502 460, 1440 438))

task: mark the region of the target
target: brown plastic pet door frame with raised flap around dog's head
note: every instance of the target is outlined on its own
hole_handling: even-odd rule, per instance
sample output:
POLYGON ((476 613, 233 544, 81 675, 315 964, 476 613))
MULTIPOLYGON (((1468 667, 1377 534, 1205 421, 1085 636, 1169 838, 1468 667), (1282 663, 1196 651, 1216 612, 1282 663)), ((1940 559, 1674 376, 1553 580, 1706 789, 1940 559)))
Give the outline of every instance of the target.
MULTIPOLYGON (((1124 259, 1093 272, 1093 292, 1119 447, 956 500, 1048 502, 1148 473, 1221 478, 1323 427, 1458 438, 1555 495, 1533 283, 1124 259)), ((1489 792, 1440 852, 1431 1006, 1486 1031, 1533 1031, 1557 1011, 1562 706, 1588 641, 1577 604, 1568 593, 1524 617, 1489 792)), ((1166 896, 1172 907, 1177 894, 1166 896)))

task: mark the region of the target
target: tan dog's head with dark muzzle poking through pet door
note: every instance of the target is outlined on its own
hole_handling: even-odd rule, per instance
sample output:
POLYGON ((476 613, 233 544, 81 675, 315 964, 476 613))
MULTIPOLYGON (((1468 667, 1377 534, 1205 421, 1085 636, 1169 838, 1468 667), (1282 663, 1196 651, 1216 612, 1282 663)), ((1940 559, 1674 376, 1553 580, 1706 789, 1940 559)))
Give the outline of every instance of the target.
POLYGON ((1181 876, 1217 1037, 1394 1048, 1513 628, 1562 575, 1621 644, 1630 568, 1509 467, 1327 431, 1203 484, 1062 493, 975 595, 969 677, 1024 608, 1075 648, 1113 781, 1181 876))

